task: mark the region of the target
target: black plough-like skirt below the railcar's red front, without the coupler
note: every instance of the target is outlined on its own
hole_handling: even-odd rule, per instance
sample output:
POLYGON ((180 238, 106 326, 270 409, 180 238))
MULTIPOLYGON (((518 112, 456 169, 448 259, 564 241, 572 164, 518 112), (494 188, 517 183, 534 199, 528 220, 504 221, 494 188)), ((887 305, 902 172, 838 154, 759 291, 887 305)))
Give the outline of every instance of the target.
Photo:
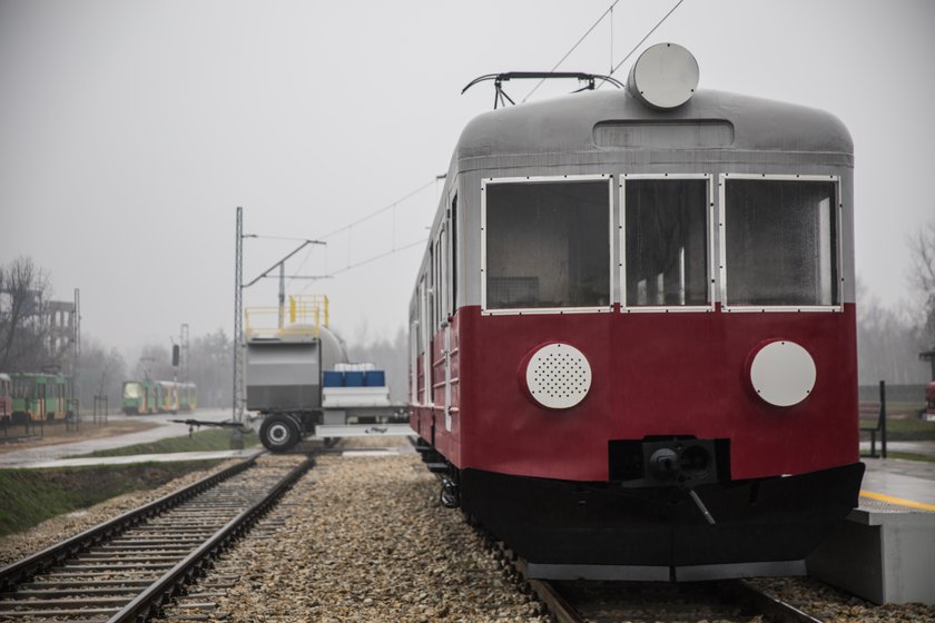
POLYGON ((688 490, 464 469, 457 484, 462 510, 531 563, 681 567, 805 558, 857 505, 863 474, 855 463, 688 490))

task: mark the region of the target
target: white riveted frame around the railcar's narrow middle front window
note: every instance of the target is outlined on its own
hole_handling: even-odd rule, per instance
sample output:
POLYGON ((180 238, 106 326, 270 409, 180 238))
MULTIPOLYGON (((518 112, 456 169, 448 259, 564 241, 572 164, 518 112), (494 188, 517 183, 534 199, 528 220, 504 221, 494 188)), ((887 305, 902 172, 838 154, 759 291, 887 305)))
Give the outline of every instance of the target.
POLYGON ((619 180, 620 224, 618 269, 620 287, 620 312, 622 314, 669 314, 669 313, 710 313, 715 310, 715 188, 712 174, 622 174, 619 180), (628 305, 627 301, 627 180, 641 179, 703 179, 708 187, 708 205, 705 206, 705 240, 707 246, 708 304, 707 305, 628 305))

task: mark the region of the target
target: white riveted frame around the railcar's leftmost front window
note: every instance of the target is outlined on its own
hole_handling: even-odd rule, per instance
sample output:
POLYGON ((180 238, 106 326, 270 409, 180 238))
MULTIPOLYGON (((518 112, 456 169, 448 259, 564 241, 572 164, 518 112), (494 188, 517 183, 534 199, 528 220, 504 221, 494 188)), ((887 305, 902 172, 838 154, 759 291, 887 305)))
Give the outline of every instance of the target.
POLYGON ((481 180, 481 315, 482 316, 516 316, 516 315, 543 315, 543 314, 607 314, 613 312, 613 175, 557 175, 557 176, 520 176, 520 177, 490 177, 481 180), (509 307, 489 309, 486 300, 486 189, 488 186, 496 184, 560 184, 563 181, 604 181, 607 182, 608 198, 608 304, 588 307, 509 307))

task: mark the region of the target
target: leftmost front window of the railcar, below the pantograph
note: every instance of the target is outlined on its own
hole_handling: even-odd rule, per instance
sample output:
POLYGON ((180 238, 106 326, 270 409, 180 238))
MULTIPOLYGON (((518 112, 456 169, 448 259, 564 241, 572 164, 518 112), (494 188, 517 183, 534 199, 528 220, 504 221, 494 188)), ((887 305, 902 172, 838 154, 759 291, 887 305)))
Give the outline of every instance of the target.
POLYGON ((610 306, 610 181, 484 186, 485 309, 610 306))

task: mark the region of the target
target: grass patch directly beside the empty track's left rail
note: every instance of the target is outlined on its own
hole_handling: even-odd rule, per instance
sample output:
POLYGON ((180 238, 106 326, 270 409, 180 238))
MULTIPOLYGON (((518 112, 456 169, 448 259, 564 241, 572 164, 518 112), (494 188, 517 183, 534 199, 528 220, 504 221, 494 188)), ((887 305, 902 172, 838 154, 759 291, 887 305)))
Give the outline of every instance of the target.
POLYGON ((94 506, 134 491, 147 491, 219 461, 135 465, 0 469, 0 536, 22 532, 57 515, 94 506))

